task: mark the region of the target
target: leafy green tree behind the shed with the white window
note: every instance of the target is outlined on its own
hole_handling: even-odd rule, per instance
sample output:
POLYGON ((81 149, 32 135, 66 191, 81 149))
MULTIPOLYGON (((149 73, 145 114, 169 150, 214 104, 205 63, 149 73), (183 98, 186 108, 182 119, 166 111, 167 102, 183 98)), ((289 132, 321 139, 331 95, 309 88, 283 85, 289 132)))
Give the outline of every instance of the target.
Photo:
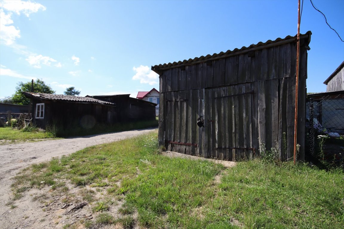
MULTIPOLYGON (((30 92, 31 91, 31 81, 23 83, 19 82, 17 87, 15 87, 15 93, 12 95, 13 104, 19 105, 29 105, 30 99, 26 98, 22 92, 30 92)), ((33 81, 33 92, 36 93, 46 93, 46 94, 54 94, 55 91, 45 84, 43 80, 36 79, 33 81)))

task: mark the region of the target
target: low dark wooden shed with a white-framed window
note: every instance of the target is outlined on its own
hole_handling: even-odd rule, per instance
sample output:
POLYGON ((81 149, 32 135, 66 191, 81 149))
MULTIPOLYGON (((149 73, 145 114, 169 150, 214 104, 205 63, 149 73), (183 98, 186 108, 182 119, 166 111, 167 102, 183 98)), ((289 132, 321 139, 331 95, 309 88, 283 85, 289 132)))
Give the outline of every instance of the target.
POLYGON ((92 128, 97 123, 114 123, 114 103, 73 95, 23 92, 32 99, 33 123, 43 129, 58 124, 64 128, 75 124, 92 128))

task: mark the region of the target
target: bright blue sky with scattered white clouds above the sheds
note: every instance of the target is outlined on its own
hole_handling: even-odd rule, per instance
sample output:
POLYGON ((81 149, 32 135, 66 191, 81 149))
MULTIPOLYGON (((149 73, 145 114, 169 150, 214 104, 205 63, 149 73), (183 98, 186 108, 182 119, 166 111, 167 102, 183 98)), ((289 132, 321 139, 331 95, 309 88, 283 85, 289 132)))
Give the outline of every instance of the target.
MULTIPOLYGON (((344 1, 313 0, 344 39, 344 1)), ((159 88, 152 65, 297 34, 297 0, 0 1, 0 98, 43 79, 80 96, 159 88)), ((344 60, 344 43, 304 0, 301 33, 312 31, 308 92, 344 60)))

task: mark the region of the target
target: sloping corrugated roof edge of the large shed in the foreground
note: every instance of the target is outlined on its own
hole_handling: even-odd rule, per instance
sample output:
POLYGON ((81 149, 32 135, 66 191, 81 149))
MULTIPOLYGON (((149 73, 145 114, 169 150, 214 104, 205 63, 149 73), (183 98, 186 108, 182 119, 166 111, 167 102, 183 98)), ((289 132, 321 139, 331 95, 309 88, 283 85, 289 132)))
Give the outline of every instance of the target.
MULTIPOLYGON (((308 31, 305 34, 300 34, 300 40, 305 39, 305 45, 308 46, 309 42, 311 41, 311 35, 312 35, 311 31, 308 31)), ((222 58, 229 57, 229 56, 235 56, 235 55, 239 55, 239 54, 248 53, 249 51, 264 49, 264 48, 273 47, 273 46, 277 46, 277 45, 281 45, 281 44, 287 44, 287 43, 291 43, 291 42, 296 42, 296 38, 297 38, 296 35, 295 36, 286 36, 285 38, 277 38, 275 41, 268 40, 265 43, 259 42, 258 44, 252 44, 248 47, 243 46, 240 49, 235 48, 234 50, 227 50, 225 53, 220 52, 219 54, 217 54, 217 53, 214 53, 213 55, 208 54, 206 56, 195 57, 193 59, 190 58, 189 60, 183 60, 183 61, 178 61, 178 62, 173 62, 173 63, 170 62, 168 64, 155 65, 155 66, 152 66, 151 69, 160 75, 162 70, 171 69, 171 68, 178 68, 181 66, 193 65, 193 64, 198 64, 198 63, 203 63, 203 62, 207 62, 210 60, 217 60, 217 59, 222 59, 222 58)))

